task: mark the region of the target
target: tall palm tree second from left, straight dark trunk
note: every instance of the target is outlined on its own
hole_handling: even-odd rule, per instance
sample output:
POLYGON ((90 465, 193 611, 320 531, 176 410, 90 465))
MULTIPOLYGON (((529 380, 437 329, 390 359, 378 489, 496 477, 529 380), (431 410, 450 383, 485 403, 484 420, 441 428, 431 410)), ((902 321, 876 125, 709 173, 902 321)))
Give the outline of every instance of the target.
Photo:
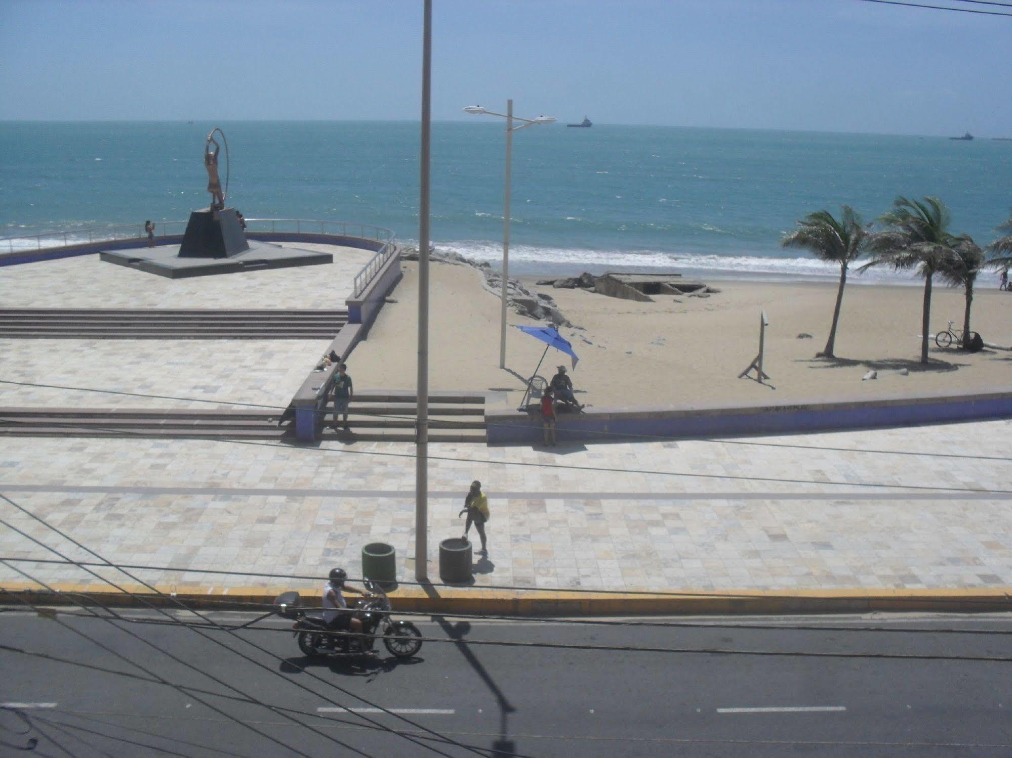
POLYGON ((861 271, 871 266, 888 265, 897 271, 916 269, 924 277, 924 312, 921 317, 921 363, 928 362, 928 331, 931 321, 931 278, 946 259, 954 255, 956 238, 949 233, 949 212, 937 197, 908 200, 900 196, 893 210, 878 217, 884 231, 868 238, 871 260, 861 271))

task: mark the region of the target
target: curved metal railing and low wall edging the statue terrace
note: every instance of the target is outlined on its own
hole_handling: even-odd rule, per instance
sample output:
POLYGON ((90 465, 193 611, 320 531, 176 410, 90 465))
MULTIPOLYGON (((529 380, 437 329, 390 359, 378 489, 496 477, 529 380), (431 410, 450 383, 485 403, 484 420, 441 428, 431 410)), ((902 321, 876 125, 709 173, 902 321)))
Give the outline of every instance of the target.
MULTIPOLYGON (((187 221, 156 221, 155 238, 181 236, 186 230, 186 223, 187 221)), ((252 233, 259 231, 261 233, 327 234, 375 240, 381 243, 376 254, 355 275, 353 297, 358 297, 364 291, 368 283, 372 281, 372 277, 397 253, 394 232, 370 223, 328 221, 319 218, 247 218, 246 226, 246 230, 252 233), (358 233, 355 233, 356 231, 358 233)), ((74 245, 143 240, 145 236, 143 223, 91 226, 72 231, 38 231, 0 239, 0 253, 28 253, 55 248, 69 248, 74 245), (5 247, 6 251, 3 250, 5 247)))

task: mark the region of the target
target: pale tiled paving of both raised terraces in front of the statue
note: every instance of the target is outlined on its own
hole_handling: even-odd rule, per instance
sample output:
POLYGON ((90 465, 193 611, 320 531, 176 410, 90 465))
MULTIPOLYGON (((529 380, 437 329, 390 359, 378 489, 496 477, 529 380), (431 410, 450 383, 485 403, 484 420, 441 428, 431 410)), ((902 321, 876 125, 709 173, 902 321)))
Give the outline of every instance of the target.
MULTIPOLYGON (((82 256, 0 269, 2 306, 343 308, 355 274, 373 255, 332 245, 294 247, 333 253, 334 263, 173 280, 82 256)), ((236 407, 201 402, 213 399, 286 405, 329 344, 329 340, 0 340, 0 405, 236 407)))

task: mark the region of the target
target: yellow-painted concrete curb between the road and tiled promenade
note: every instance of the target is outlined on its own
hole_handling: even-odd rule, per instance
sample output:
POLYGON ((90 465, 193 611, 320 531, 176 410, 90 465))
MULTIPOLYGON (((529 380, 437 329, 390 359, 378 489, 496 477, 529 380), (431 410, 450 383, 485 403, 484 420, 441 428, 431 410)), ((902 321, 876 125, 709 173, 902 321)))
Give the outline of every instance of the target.
MULTIPOLYGON (((20 605, 9 593, 36 605, 73 604, 69 596, 87 594, 97 603, 114 607, 143 605, 120 592, 96 590, 91 584, 54 583, 56 592, 39 590, 27 582, 7 582, 0 604, 20 605)), ((124 590, 144 596, 155 605, 172 605, 167 597, 149 592, 138 584, 121 584, 124 590)), ((252 609, 250 603, 269 605, 290 587, 170 586, 159 591, 203 610, 252 609)), ((314 591, 315 590, 311 590, 314 591)), ((1000 612, 1012 610, 1012 587, 967 589, 827 589, 827 590, 657 590, 643 592, 567 592, 536 590, 491 590, 431 585, 399 587, 390 592, 395 611, 424 613, 469 613, 485 615, 696 615, 840 613, 860 611, 952 611, 1000 612)), ((81 598, 84 599, 84 598, 81 598)), ((319 605, 314 594, 307 604, 319 605)))

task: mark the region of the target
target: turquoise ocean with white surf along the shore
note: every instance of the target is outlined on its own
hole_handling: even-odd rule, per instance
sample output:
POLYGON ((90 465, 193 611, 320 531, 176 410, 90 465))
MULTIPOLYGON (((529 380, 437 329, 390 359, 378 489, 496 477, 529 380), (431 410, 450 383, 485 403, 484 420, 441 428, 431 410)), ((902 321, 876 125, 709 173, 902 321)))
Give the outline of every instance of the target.
MULTIPOLYGON (((362 121, 2 122, 2 236, 187 218, 208 201, 201 154, 215 125, 228 137, 229 204, 248 218, 364 222, 417 240, 418 125, 362 121)), ((503 126, 433 124, 437 248, 501 259, 503 126)), ((779 247, 806 213, 848 203, 871 220, 899 194, 933 194, 954 231, 987 244, 1009 217, 1010 188, 1012 141, 536 125, 513 137, 510 272, 833 278, 779 247)))

